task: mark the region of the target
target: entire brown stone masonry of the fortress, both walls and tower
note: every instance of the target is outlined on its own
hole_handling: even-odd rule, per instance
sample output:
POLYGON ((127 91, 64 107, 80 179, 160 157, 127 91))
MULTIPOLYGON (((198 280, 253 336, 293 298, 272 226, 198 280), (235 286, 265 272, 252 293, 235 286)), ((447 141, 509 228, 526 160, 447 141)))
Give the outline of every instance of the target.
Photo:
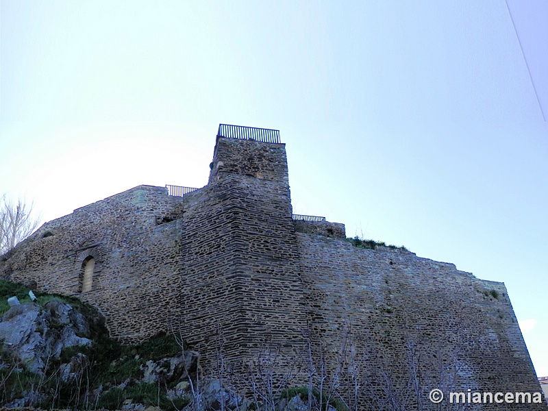
POLYGON ((429 389, 540 391, 502 283, 402 249, 358 249, 340 223, 294 221, 284 144, 217 136, 210 166, 208 185, 183 197, 138 186, 45 223, 1 256, 0 275, 92 303, 124 343, 180 334, 206 366, 219 338, 227 361, 268 340, 280 369, 303 352, 342 381, 359 366, 372 397, 388 371, 418 373, 429 389))

